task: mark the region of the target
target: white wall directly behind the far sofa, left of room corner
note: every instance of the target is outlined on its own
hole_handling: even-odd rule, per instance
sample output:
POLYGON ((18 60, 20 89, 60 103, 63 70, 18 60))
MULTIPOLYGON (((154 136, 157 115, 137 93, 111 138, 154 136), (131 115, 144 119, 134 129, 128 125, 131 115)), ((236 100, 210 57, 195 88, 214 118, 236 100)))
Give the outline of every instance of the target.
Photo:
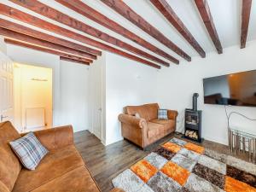
POLYGON ((110 53, 106 62, 106 144, 110 144, 123 139, 118 115, 125 106, 157 102, 158 71, 110 53))

